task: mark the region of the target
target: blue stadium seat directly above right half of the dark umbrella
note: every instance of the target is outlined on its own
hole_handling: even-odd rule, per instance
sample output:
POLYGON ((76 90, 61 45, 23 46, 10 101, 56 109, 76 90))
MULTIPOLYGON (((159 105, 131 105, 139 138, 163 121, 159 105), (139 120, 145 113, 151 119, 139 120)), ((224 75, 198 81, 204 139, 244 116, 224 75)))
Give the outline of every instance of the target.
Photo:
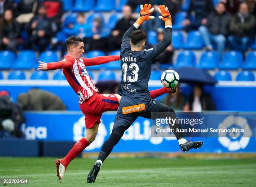
POLYGON ((199 61, 199 68, 215 69, 220 62, 220 55, 216 51, 202 53, 199 61))

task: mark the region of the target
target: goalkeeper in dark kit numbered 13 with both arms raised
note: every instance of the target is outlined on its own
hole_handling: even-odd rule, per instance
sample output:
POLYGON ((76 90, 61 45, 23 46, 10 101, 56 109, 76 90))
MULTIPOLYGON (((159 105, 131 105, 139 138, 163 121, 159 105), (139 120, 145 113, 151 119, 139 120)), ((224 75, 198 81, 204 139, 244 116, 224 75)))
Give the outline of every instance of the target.
MULTIPOLYGON (((159 18, 165 22, 164 39, 154 48, 143 50, 146 42, 146 33, 143 30, 137 29, 145 20, 154 19, 154 16, 150 16, 153 10, 154 8, 151 8, 151 5, 141 5, 140 17, 123 36, 120 51, 122 81, 118 88, 118 94, 122 96, 122 99, 115 117, 113 131, 109 139, 103 144, 100 155, 88 174, 88 183, 95 182, 102 162, 108 157, 113 147, 123 136, 125 130, 133 124, 138 116, 151 119, 152 112, 168 112, 172 118, 176 118, 173 109, 159 103, 158 100, 151 99, 148 91, 151 63, 172 42, 171 15, 168 8, 161 5, 158 10, 161 13, 159 18)), ((173 92, 175 92, 175 88, 173 92)), ((180 125, 174 124, 172 128, 180 129, 180 125)), ((183 151, 202 146, 202 142, 187 141, 182 133, 175 132, 174 135, 177 137, 183 151)))

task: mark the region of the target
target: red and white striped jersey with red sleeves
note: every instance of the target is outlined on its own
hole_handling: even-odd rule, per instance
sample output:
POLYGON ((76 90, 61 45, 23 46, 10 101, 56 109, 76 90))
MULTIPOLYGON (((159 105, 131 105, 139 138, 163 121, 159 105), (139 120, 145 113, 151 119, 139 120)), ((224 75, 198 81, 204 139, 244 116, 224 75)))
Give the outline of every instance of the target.
POLYGON ((47 64, 47 69, 63 68, 64 76, 69 85, 77 93, 79 103, 82 104, 86 99, 90 98, 94 93, 99 92, 92 78, 88 75, 86 67, 99 65, 111 61, 120 60, 120 56, 99 56, 95 58, 78 58, 65 56, 60 62, 52 62, 47 64))

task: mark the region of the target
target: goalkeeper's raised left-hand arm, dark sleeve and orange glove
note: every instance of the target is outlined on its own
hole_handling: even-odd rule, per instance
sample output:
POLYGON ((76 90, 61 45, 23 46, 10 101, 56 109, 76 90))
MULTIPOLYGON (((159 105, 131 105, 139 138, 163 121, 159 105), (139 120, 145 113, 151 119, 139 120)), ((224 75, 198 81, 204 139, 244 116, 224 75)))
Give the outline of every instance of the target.
POLYGON ((146 20, 155 19, 154 16, 150 16, 150 14, 154 11, 154 8, 151 8, 151 4, 145 4, 144 6, 141 5, 141 12, 138 20, 125 32, 123 35, 123 41, 121 44, 121 48, 123 48, 124 45, 130 45, 130 35, 134 30, 137 30, 141 24, 146 20))

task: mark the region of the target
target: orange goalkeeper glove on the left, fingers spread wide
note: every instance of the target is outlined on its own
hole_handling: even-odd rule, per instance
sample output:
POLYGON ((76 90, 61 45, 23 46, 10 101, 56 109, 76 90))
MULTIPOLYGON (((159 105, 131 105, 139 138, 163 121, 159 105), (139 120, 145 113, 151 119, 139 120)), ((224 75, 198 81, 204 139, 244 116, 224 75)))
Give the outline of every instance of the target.
POLYGON ((145 4, 144 7, 143 5, 141 5, 141 12, 140 12, 140 17, 138 18, 138 20, 134 23, 134 26, 136 28, 139 28, 139 26, 141 26, 141 24, 146 21, 146 20, 152 20, 155 19, 154 16, 150 16, 150 14, 154 11, 154 8, 151 8, 152 5, 151 4, 145 4))

